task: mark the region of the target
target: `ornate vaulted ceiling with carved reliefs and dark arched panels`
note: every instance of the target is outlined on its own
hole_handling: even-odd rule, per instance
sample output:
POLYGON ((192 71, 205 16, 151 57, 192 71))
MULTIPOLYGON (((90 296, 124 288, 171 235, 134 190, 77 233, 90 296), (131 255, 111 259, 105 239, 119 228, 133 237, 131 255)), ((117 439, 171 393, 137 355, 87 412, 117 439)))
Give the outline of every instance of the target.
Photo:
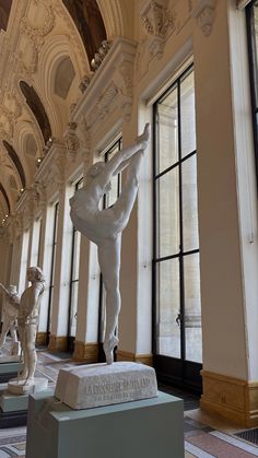
POLYGON ((80 82, 106 39, 98 3, 0 0, 0 225, 49 141, 63 142, 80 82))

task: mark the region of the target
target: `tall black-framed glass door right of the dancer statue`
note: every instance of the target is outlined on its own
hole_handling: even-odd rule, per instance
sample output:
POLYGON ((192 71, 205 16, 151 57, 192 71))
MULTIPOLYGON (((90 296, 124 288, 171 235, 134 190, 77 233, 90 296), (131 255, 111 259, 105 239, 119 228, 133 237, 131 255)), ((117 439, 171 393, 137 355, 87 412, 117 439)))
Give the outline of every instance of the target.
POLYGON ((201 388, 197 151, 194 68, 154 105, 154 366, 201 388))

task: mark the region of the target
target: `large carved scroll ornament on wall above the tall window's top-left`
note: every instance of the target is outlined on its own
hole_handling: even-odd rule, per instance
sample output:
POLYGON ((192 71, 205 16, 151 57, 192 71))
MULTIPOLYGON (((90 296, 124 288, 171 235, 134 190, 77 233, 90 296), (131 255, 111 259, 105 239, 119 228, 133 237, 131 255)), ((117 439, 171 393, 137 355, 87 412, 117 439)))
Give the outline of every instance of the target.
POLYGON ((167 8, 167 0, 151 0, 141 12, 141 20, 149 36, 149 51, 160 59, 167 37, 175 31, 175 12, 167 8))

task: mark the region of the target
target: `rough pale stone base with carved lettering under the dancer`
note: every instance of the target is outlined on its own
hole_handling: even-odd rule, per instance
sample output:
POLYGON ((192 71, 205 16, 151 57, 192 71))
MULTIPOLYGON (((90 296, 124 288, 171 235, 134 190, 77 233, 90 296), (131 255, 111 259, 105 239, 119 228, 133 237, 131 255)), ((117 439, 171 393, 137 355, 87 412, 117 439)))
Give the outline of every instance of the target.
POLYGON ((153 367, 119 362, 60 369, 56 398, 72 409, 89 409, 157 396, 153 367))

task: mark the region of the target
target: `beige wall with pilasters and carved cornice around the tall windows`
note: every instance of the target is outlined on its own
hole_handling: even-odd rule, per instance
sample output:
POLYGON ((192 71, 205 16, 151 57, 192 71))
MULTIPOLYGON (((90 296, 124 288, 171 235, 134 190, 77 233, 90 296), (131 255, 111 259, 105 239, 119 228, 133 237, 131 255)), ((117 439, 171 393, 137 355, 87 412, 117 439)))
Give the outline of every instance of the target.
MULTIPOLYGON (((155 97, 168 86, 185 61, 191 59, 196 80, 203 368, 243 380, 257 380, 258 363, 253 350, 258 343, 257 208, 250 106, 247 102, 244 12, 236 11, 233 0, 214 3, 160 1, 162 9, 167 4, 169 14, 165 11, 161 23, 155 23, 152 2, 130 2, 129 15, 125 0, 109 2, 109 8, 106 2, 98 3, 114 43, 86 91, 81 94, 74 86, 69 102, 63 105, 66 116, 77 124, 73 130, 60 131, 58 111, 54 102, 49 105, 56 139, 36 172, 38 195, 36 200, 25 195, 14 213, 13 223, 9 224, 9 240, 14 242, 15 251, 12 279, 16 279, 19 268, 16 232, 13 230, 15 218, 21 218, 24 208, 28 208, 33 218, 40 213, 45 219, 46 205, 58 190, 64 192, 66 184, 71 183, 80 167, 85 171, 112 139, 122 134, 124 144, 129 144, 146 121, 152 122, 155 97), (164 21, 167 17, 171 17, 168 23, 164 21), (154 32, 151 32, 151 26, 154 32), (244 67, 236 59, 238 55, 244 67), (77 105, 68 114, 71 102, 77 105), (70 144, 67 150, 63 134, 66 139, 74 140, 73 146, 70 144)), ((35 79, 46 94, 46 103, 51 97, 49 79, 55 77, 52 62, 68 50, 60 39, 62 33, 63 23, 57 20, 57 28, 46 37, 39 56, 42 74, 36 73, 35 79), (51 45, 54 43, 57 47, 51 45), (51 49, 49 58, 47 49, 51 49)), ((71 48, 77 79, 81 81, 89 69, 83 63, 83 52, 74 55, 71 48)), ((61 287, 68 281, 62 266, 64 248, 60 239, 62 221, 67 219, 66 204, 63 201, 59 215, 61 223, 56 263, 57 285, 61 287)), ((40 250, 43 259, 43 247, 40 250)), ((1 256, 7 266, 5 250, 1 250, 1 256)), ((151 354, 151 143, 141 172, 138 202, 124 234, 121 258, 119 350, 134 355, 151 354)), ((77 340, 84 343, 94 343, 97 339, 98 275, 94 248, 83 239, 77 340)), ((5 281, 3 268, 0 280, 5 281)), ((51 330, 57 337, 62 337, 66 328, 67 305, 63 301, 62 292, 57 291, 51 330), (61 310, 64 310, 64 318, 61 310)))

